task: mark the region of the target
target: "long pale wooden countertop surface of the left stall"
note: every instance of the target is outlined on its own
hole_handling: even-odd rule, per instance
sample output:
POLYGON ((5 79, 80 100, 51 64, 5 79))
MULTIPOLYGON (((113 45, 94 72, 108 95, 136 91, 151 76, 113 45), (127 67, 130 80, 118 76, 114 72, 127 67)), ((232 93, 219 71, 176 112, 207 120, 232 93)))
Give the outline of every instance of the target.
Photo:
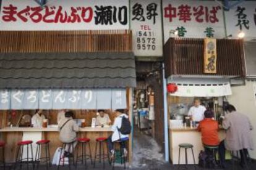
MULTIPOLYGON (((58 132, 58 127, 4 127, 0 132, 58 132)), ((111 132, 109 127, 83 127, 79 128, 79 132, 111 132)))

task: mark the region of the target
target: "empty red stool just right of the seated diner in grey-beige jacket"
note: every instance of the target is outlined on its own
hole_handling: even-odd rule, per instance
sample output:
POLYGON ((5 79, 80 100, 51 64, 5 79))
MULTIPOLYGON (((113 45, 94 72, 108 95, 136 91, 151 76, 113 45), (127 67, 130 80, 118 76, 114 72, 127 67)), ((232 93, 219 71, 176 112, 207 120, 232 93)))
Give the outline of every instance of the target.
POLYGON ((75 161, 75 166, 77 166, 77 162, 82 161, 82 164, 83 164, 83 160, 85 160, 85 167, 87 168, 87 160, 91 160, 91 164, 93 164, 92 152, 91 152, 91 147, 90 147, 90 139, 88 139, 88 138, 79 138, 79 139, 77 139, 77 142, 78 142, 79 145, 81 145, 82 149, 81 149, 81 155, 80 156, 79 156, 79 152, 78 152, 79 149, 77 149, 77 160, 75 161), (86 152, 87 144, 88 144, 90 155, 88 155, 87 152, 86 152))

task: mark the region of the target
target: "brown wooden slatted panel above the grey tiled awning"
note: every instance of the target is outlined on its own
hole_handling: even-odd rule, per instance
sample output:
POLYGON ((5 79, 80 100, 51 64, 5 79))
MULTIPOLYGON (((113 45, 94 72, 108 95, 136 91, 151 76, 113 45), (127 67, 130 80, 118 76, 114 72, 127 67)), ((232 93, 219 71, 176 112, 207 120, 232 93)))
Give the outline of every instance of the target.
POLYGON ((0 52, 130 52, 131 30, 0 31, 0 52))

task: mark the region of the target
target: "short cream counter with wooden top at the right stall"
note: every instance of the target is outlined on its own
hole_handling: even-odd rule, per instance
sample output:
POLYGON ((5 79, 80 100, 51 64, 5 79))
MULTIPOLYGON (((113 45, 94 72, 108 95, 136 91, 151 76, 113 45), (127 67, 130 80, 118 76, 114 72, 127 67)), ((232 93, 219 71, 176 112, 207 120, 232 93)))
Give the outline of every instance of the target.
MULTIPOLYGON (((219 132, 220 140, 223 140, 226 136, 224 129, 219 132)), ((198 132, 196 128, 175 128, 169 129, 169 156, 173 164, 178 164, 179 160, 179 144, 189 143, 194 145, 195 163, 198 163, 198 155, 200 150, 203 149, 201 132, 198 132)), ((187 150, 188 163, 193 164, 193 157, 191 150, 187 150)), ((185 150, 181 149, 181 164, 185 164, 185 150)))

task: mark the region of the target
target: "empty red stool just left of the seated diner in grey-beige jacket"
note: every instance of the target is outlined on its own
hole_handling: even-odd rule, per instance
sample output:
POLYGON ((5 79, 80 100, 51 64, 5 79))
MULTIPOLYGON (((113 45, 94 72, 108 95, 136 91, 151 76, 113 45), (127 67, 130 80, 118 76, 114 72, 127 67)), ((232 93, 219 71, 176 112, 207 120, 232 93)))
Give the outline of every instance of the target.
POLYGON ((36 142, 36 155, 35 161, 37 162, 37 168, 39 167, 40 163, 46 163, 46 169, 48 169, 48 164, 51 166, 51 158, 49 154, 49 140, 39 140, 36 142), (41 158, 41 147, 45 146, 45 157, 41 158))

